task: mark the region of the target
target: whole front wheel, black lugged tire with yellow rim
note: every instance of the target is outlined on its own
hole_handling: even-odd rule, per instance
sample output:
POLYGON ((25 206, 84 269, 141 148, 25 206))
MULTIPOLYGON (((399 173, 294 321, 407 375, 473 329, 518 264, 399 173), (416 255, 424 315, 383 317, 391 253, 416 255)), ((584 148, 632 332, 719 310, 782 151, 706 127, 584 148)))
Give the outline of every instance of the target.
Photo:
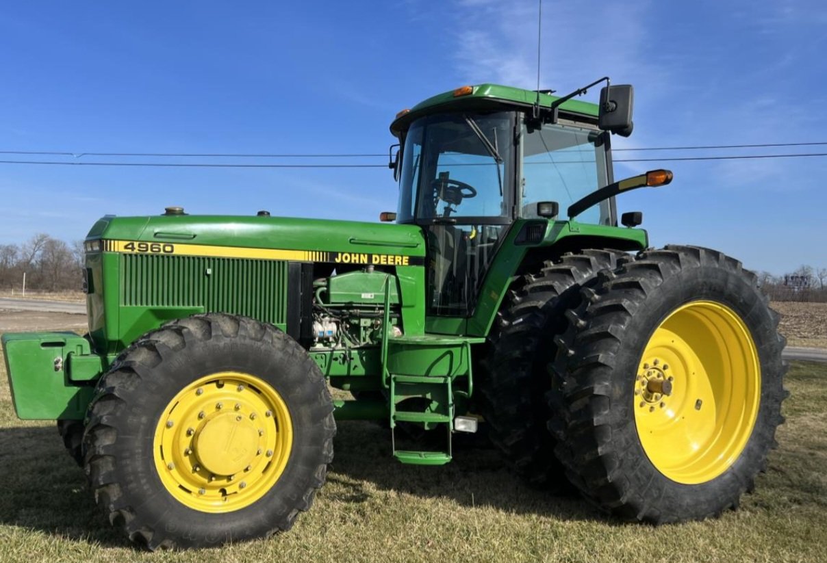
POLYGON ((110 521, 150 549, 293 525, 332 460, 323 375, 271 325, 210 313, 141 337, 98 384, 86 471, 110 521))

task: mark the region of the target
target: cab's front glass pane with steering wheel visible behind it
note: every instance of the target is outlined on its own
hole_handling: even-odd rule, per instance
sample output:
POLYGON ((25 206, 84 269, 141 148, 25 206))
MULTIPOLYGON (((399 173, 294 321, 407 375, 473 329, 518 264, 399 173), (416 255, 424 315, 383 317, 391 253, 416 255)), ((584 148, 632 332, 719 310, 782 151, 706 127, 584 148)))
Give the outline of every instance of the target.
POLYGON ((399 222, 509 222, 513 112, 423 117, 404 145, 399 222))

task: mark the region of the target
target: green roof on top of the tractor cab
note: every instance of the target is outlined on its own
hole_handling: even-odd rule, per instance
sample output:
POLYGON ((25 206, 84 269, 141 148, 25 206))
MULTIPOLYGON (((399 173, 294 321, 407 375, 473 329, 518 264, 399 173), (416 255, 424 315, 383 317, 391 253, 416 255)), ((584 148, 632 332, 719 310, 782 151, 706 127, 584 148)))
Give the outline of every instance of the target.
MULTIPOLYGON (((559 99, 547 93, 540 93, 540 107, 551 107, 552 103, 559 99)), ((525 109, 532 107, 538 100, 536 90, 523 90, 500 84, 477 84, 476 86, 457 88, 443 92, 424 100, 412 107, 409 111, 399 112, 394 122, 390 124, 390 132, 399 136, 401 131, 407 129, 409 124, 430 113, 466 110, 486 109, 525 109), (460 90, 470 93, 457 95, 460 90)), ((568 100, 560 106, 560 110, 566 113, 576 114, 577 117, 586 117, 588 121, 597 118, 598 106, 596 103, 581 102, 580 100, 568 100)))

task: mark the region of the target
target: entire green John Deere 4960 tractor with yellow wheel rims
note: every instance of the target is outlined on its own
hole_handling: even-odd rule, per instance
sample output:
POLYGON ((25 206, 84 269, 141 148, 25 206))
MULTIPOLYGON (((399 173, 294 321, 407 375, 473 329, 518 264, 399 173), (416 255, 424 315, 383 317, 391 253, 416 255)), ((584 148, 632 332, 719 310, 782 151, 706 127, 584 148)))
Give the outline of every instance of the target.
POLYGON ((485 428, 528 482, 619 518, 736 507, 782 422, 777 314, 739 261, 618 220, 616 195, 672 173, 616 181, 632 88, 584 92, 481 84, 399 112, 394 224, 103 217, 88 334, 2 337, 17 416, 58 421, 151 549, 287 530, 347 419, 414 465, 485 428))

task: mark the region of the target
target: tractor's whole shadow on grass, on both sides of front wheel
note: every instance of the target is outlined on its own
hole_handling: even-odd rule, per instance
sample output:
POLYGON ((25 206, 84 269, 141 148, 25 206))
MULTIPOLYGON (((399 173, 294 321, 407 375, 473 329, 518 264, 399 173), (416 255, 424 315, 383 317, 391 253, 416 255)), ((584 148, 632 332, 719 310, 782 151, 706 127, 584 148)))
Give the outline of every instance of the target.
MULTIPOLYGON (((553 496, 529 488, 484 441, 460 438, 448 465, 402 465, 390 455, 387 429, 370 422, 340 422, 336 458, 327 474, 332 486, 322 494, 363 503, 376 490, 393 490, 509 513, 605 520, 576 496, 553 496)), ((64 450, 55 427, 0 429, 0 475, 6 481, 6 492, 0 495, 0 523, 78 542, 133 547, 95 505, 84 471, 64 450)))

